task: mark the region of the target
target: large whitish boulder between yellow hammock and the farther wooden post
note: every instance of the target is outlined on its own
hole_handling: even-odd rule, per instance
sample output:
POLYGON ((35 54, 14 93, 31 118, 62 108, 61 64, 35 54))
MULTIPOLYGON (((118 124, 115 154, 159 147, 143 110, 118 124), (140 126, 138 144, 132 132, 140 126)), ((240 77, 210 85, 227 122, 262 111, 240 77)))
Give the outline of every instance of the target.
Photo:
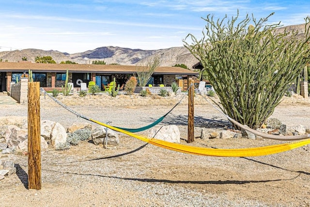
POLYGON ((158 140, 164 140, 171 143, 180 143, 181 133, 176 125, 168 125, 163 127, 155 127, 150 129, 148 137, 158 140))

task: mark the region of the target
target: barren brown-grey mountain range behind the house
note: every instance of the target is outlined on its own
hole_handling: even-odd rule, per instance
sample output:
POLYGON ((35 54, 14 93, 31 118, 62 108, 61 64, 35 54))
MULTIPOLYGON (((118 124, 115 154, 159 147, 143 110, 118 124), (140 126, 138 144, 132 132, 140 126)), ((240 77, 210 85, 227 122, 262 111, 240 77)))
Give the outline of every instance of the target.
MULTIPOLYGON (((278 28, 275 32, 283 32, 284 29, 287 31, 294 30, 304 33, 305 24, 278 28)), ((74 54, 41 49, 23 49, 0 52, 0 59, 8 62, 20 62, 23 57, 26 57, 27 61, 34 63, 37 56, 51 56, 57 63, 61 63, 62 61, 72 61, 78 64, 92 64, 95 60, 103 60, 107 64, 117 63, 121 65, 135 65, 140 61, 146 61, 154 56, 159 56, 161 59, 161 66, 185 64, 189 69, 192 69, 192 66, 199 62, 185 47, 143 50, 109 46, 74 54)))

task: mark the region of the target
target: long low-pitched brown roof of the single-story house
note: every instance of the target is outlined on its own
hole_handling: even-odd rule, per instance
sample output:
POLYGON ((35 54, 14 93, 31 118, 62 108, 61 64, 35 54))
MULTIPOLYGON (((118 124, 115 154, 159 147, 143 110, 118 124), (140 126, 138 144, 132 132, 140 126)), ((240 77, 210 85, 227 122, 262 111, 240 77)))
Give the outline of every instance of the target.
MULTIPOLYGON (((39 64, 0 62, 0 72, 65 72, 70 73, 123 73, 131 74, 137 71, 135 65, 101 65, 101 64, 39 64)), ((198 73, 182 67, 157 67, 154 74, 161 75, 198 75, 198 73)))

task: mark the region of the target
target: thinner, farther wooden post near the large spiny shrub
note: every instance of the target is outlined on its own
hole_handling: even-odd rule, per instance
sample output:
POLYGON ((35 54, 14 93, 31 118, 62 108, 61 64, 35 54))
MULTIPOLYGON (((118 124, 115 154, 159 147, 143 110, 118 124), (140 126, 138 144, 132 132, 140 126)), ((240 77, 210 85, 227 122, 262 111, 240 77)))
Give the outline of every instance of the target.
POLYGON ((187 143, 194 142, 194 81, 188 80, 188 127, 187 127, 187 143))

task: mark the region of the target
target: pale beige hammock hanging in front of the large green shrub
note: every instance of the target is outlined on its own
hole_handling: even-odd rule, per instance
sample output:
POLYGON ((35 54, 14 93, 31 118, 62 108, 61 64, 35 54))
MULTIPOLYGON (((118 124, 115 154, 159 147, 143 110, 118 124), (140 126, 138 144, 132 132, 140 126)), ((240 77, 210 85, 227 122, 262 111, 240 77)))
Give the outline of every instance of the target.
POLYGON ((261 136, 266 139, 270 140, 279 140, 279 141, 296 141, 296 140, 304 140, 310 138, 310 134, 301 134, 301 135, 294 135, 294 136, 279 136, 279 135, 273 135, 273 134, 266 134, 260 131, 257 131, 255 129, 252 129, 248 126, 242 125, 233 118, 229 117, 227 114, 225 114, 223 111, 218 109, 214 104, 212 104, 207 98, 205 98, 202 94, 201 96, 209 103, 211 106, 213 106, 217 111, 222 113, 228 120, 230 120, 233 124, 237 125, 240 128, 243 128, 244 130, 247 130, 251 132, 252 134, 255 134, 257 136, 261 136))

